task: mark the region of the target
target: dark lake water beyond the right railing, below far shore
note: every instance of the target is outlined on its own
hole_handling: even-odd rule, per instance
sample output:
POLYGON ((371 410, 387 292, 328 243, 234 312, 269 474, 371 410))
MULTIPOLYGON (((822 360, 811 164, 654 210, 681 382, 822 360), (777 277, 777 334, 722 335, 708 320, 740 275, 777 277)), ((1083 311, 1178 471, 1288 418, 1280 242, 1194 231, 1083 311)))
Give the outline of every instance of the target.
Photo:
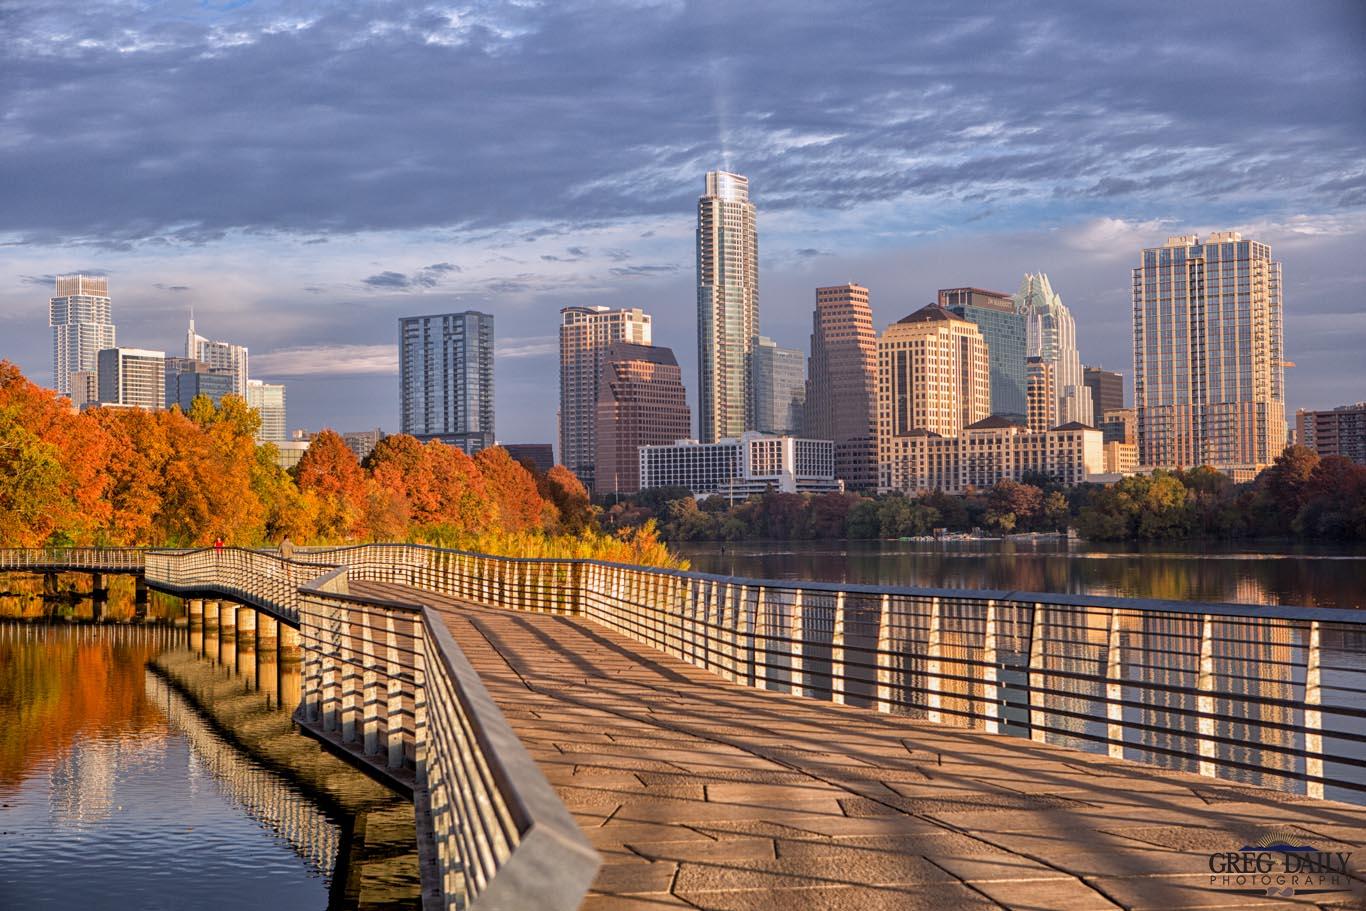
POLYGON ((1366 549, 1061 539, 679 544, 702 572, 855 585, 1366 606, 1366 549))

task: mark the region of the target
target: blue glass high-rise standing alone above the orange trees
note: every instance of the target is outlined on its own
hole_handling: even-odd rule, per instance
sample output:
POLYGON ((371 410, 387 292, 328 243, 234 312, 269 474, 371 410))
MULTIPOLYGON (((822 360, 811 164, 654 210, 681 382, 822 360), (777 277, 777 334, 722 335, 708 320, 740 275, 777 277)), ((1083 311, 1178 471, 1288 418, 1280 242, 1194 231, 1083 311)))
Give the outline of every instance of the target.
POLYGON ((399 430, 474 455, 493 445, 493 317, 399 320, 399 430))

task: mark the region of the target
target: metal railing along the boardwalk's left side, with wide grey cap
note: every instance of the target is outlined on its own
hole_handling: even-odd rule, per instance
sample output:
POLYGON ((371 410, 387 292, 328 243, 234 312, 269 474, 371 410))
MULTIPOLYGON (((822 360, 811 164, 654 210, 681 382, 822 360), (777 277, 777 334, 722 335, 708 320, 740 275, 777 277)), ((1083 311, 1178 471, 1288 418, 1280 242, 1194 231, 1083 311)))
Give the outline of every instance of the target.
POLYGON ((411 787, 425 907, 576 908, 601 859, 445 623, 421 605, 351 595, 350 572, 320 553, 232 548, 154 552, 146 564, 152 586, 232 597, 298 624, 295 717, 411 787))

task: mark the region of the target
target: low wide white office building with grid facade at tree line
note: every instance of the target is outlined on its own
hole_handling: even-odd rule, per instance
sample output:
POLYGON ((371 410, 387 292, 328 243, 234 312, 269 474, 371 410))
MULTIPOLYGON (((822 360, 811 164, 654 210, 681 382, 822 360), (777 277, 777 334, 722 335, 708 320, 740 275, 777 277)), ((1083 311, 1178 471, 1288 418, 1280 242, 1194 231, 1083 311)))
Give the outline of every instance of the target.
POLYGON ((835 478, 835 444, 829 440, 744 433, 734 440, 641 447, 641 488, 683 486, 694 496, 743 500, 777 490, 829 493, 835 478))

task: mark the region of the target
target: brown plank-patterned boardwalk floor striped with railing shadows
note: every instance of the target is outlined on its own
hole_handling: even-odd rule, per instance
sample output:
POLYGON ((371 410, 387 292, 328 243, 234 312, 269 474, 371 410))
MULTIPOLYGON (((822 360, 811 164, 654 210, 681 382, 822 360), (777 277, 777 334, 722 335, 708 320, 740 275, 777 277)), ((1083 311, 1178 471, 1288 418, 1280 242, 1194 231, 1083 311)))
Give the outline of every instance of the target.
POLYGON ((1209 855, 1294 840, 1366 867, 1362 807, 755 691, 578 617, 351 590, 447 619, 604 856, 585 911, 1305 908, 1212 885, 1209 855))

